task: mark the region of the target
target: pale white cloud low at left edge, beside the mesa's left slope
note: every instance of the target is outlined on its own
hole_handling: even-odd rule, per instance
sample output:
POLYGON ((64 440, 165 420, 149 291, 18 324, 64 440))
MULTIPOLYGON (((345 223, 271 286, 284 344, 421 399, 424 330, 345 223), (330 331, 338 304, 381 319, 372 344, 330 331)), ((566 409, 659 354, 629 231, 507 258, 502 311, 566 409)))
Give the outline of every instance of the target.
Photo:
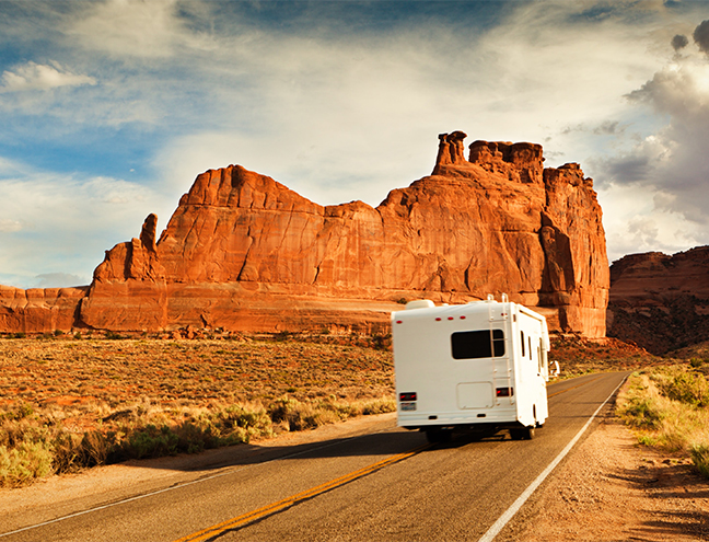
MULTIPOLYGON (((0 178, 0 284, 24 288, 53 274, 90 280, 104 251, 138 237, 143 219, 163 205, 146 186, 30 168, 21 177, 0 178)), ((53 285, 62 286, 56 278, 53 285)))

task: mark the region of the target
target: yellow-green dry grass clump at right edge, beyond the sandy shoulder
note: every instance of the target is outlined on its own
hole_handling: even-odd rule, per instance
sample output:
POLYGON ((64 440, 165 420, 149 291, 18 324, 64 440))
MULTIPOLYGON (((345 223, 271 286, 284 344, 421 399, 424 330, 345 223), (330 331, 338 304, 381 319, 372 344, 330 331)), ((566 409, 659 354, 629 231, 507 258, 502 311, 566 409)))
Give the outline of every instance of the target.
POLYGON ((684 364, 635 372, 617 413, 641 445, 691 457, 709 477, 709 383, 698 369, 684 364))

